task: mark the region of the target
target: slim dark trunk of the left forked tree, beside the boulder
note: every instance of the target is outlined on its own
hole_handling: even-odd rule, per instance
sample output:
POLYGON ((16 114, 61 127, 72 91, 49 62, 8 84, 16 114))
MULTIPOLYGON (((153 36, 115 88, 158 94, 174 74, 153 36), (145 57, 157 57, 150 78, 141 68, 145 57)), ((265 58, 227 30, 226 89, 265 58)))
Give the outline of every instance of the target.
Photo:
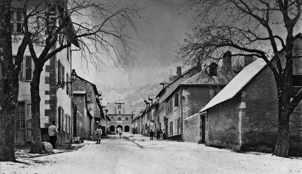
POLYGON ((31 153, 41 153, 42 152, 42 138, 41 138, 41 128, 40 128, 40 75, 43 70, 43 66, 35 64, 35 69, 33 72, 33 79, 31 81, 31 153))

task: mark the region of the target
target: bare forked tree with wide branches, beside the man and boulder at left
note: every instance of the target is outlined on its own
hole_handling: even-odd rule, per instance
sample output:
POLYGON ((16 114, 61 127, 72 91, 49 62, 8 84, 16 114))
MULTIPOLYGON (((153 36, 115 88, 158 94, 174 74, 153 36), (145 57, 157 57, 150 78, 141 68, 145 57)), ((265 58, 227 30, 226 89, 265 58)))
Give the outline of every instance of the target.
MULTIPOLYGON (((91 62, 97 70, 100 70, 101 65, 106 62, 104 57, 113 62, 112 66, 119 66, 129 56, 129 52, 133 50, 132 37, 127 34, 127 31, 131 30, 137 33, 134 18, 138 16, 139 8, 136 3, 129 5, 127 1, 104 2, 98 0, 59 2, 26 0, 18 6, 22 7, 23 11, 22 36, 14 39, 18 41, 30 38, 25 41, 28 42, 28 48, 34 61, 33 77, 30 83, 32 102, 31 153, 40 153, 41 99, 39 85, 40 75, 46 61, 56 53, 70 47, 73 43, 79 44, 82 48, 82 58, 87 62, 91 62), (72 16, 77 17, 76 20, 72 21, 72 16)), ((27 42, 25 41, 25 47, 19 47, 21 53, 24 53, 26 49, 27 42)), ((19 61, 21 64, 22 55, 19 57, 17 55, 16 62, 19 61)), ((6 69, 5 66, 3 67, 2 69, 6 69)), ((20 68, 18 72, 13 73, 17 77, 14 84, 18 84, 19 71, 20 68)), ((8 72, 5 72, 6 74, 8 72)), ((14 108, 9 108, 12 115, 15 113, 16 103, 18 103, 18 89, 14 91, 14 95, 16 95, 14 108)), ((8 125, 11 130, 12 126, 11 124, 8 125)), ((2 138, 0 137, 0 139, 2 138)), ((10 140, 13 141, 13 134, 11 134, 10 140)))

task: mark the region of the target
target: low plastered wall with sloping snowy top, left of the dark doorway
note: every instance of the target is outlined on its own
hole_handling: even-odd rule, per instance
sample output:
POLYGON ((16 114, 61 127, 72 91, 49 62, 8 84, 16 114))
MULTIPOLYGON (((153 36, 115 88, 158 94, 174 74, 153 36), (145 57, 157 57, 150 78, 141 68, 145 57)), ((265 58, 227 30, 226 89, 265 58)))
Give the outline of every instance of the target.
POLYGON ((199 114, 194 114, 184 120, 183 140, 186 142, 199 143, 199 114))

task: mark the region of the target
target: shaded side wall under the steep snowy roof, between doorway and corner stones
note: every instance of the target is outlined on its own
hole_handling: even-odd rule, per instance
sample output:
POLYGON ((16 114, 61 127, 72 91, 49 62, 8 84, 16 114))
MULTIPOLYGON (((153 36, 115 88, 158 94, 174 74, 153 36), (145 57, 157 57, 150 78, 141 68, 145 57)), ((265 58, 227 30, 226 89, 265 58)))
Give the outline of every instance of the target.
POLYGON ((240 95, 207 110, 207 144, 240 149, 238 104, 240 95))

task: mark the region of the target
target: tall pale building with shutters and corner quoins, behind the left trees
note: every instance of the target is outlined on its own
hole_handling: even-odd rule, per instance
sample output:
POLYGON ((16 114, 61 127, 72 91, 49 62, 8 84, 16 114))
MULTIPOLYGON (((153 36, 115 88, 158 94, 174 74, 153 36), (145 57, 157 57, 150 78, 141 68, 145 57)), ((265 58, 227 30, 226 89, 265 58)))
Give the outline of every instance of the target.
MULTIPOLYGON (((21 4, 22 6, 23 4, 21 4)), ((21 23, 22 10, 18 1, 12 1, 11 7, 11 34, 14 38, 22 38, 21 23), (20 22, 20 21, 19 21, 20 22), (19 25, 20 24, 20 25, 19 25)), ((50 8, 52 11, 60 11, 58 7, 50 8)), ((59 17, 59 13, 53 13, 53 17, 59 17)), ((69 35, 65 36, 69 39, 69 35)), ((18 52, 20 42, 18 40, 12 42, 13 62, 18 52)), ((78 42, 74 42, 72 47, 79 47, 78 42)), ((51 49, 56 49, 57 45, 51 49)), ((41 47, 34 46, 37 55, 41 54, 41 47)), ((72 137, 72 83, 57 89, 56 82, 70 81, 71 67, 71 47, 67 47, 56 53, 43 66, 40 76, 40 127, 42 141, 48 141, 48 127, 52 121, 56 120, 56 126, 59 130, 59 138, 56 144, 65 144, 71 142, 72 137)), ((34 62, 28 47, 25 50, 23 62, 21 64, 21 72, 19 74, 19 96, 18 107, 16 112, 16 120, 14 124, 14 142, 15 144, 24 144, 31 142, 31 92, 30 82, 33 76, 34 62)), ((0 77, 2 77, 0 67, 0 77)))

